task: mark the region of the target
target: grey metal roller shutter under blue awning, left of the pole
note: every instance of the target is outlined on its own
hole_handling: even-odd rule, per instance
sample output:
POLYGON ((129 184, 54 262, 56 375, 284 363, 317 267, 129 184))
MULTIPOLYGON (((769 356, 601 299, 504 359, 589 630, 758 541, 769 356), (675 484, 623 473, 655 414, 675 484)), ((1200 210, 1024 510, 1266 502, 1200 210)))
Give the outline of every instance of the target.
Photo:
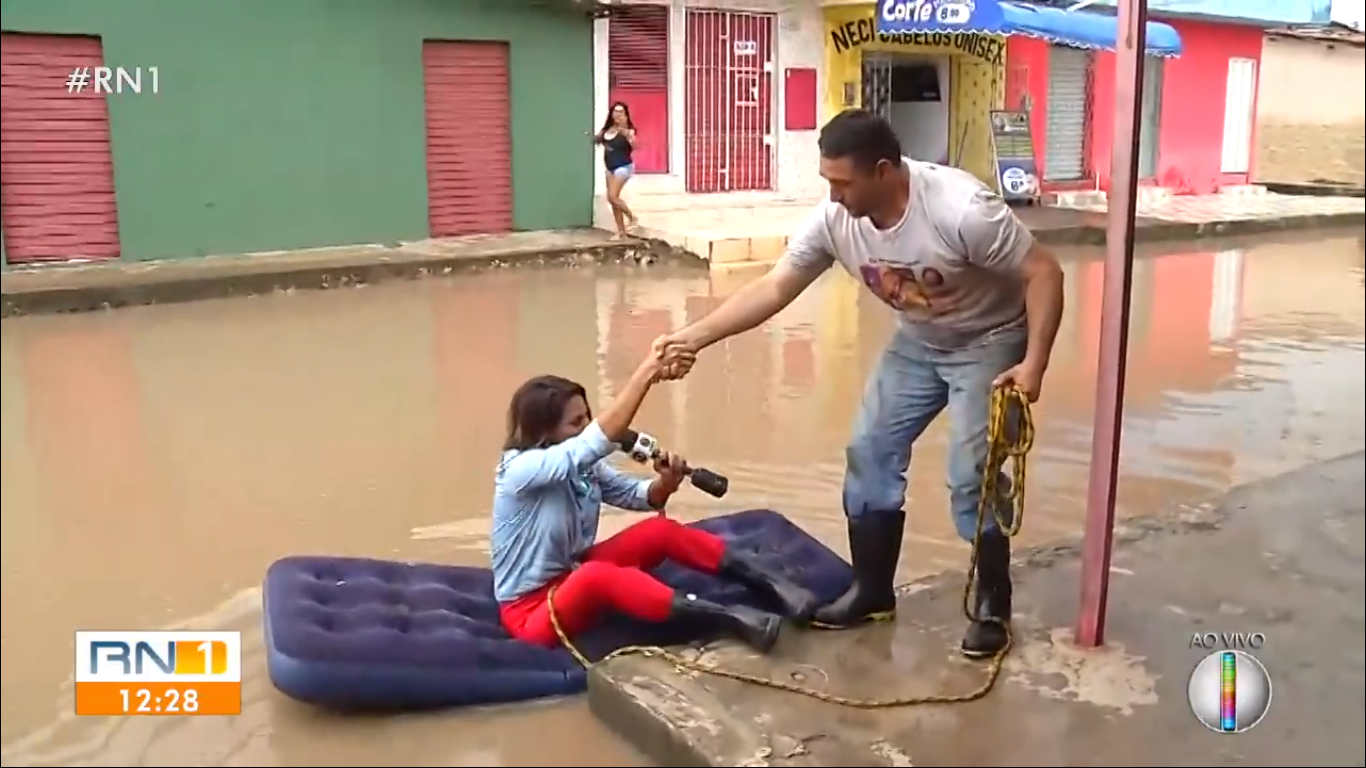
POLYGON ((1048 126, 1044 180, 1070 182, 1086 174, 1086 72, 1090 55, 1079 48, 1048 48, 1048 126))

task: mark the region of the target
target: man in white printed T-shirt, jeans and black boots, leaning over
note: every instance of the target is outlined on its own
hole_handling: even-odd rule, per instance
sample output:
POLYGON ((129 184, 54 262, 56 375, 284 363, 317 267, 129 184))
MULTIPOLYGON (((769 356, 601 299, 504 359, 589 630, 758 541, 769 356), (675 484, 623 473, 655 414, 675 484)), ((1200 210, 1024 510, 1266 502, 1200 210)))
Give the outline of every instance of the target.
MULTIPOLYGON (((1000 195, 971 174, 902 156, 892 127, 850 109, 820 137, 824 201, 788 241, 773 269, 702 320, 660 338, 665 376, 695 355, 777 314, 840 264, 899 316, 873 370, 846 450, 843 506, 855 582, 814 615, 817 626, 888 619, 906 526, 911 448, 949 414, 949 510, 959 536, 977 536, 992 391, 1038 399, 1063 314, 1063 271, 1000 195)), ((975 618, 962 650, 990 657, 1008 644, 1012 585, 1009 480, 994 499, 977 558, 975 618)))

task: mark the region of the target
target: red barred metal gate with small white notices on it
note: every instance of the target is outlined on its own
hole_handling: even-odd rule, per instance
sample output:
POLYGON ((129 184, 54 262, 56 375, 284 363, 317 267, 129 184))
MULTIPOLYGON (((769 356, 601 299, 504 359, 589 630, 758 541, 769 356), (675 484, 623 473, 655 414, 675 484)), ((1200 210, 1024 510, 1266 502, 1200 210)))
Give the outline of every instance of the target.
POLYGON ((687 12, 688 191, 773 189, 773 15, 687 12))

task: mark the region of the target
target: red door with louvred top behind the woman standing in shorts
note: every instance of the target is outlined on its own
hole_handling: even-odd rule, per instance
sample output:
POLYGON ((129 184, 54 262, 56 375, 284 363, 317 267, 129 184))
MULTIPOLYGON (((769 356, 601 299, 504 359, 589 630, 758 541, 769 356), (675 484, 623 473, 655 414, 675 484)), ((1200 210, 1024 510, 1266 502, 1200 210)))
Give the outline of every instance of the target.
MULTIPOLYGON (((669 172, 669 10, 613 5, 608 16, 607 67, 612 102, 635 123, 637 174, 669 172)), ((607 119, 607 105, 597 116, 607 119)))

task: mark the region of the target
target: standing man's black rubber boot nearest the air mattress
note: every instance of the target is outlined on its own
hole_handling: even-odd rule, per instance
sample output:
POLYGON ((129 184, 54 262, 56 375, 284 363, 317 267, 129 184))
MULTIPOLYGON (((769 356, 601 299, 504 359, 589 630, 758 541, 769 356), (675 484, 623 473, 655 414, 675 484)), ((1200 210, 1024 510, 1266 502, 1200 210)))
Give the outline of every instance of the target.
POLYGON ((854 585, 816 611, 811 626, 846 629, 896 618, 896 562, 902 555, 906 512, 867 512, 848 519, 854 585))

